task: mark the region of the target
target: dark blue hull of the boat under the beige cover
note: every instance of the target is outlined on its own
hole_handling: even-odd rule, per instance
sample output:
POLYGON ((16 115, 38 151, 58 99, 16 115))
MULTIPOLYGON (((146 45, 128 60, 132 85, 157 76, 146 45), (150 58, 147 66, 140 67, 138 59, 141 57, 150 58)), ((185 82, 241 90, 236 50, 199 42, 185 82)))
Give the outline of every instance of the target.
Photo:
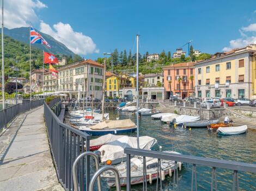
POLYGON ((88 135, 92 136, 102 136, 107 134, 121 134, 121 133, 130 133, 135 132, 137 129, 137 126, 133 128, 127 128, 127 129, 106 129, 106 130, 92 130, 90 128, 85 128, 81 131, 86 132, 88 135))

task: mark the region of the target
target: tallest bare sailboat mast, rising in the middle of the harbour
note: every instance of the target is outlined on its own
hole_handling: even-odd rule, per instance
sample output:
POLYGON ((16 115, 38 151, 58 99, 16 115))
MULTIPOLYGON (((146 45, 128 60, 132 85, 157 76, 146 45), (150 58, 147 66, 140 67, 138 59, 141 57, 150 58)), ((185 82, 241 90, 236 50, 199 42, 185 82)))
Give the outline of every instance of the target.
POLYGON ((139 149, 139 35, 137 37, 136 54, 136 92, 137 92, 137 148, 139 149))

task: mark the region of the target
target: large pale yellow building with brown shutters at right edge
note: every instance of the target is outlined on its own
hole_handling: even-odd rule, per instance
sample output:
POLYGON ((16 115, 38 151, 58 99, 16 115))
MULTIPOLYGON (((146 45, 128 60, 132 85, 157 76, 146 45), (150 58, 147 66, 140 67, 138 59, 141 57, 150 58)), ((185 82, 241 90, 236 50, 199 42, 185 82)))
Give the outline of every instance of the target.
POLYGON ((251 44, 195 63, 196 97, 253 98, 254 53, 256 44, 251 44))

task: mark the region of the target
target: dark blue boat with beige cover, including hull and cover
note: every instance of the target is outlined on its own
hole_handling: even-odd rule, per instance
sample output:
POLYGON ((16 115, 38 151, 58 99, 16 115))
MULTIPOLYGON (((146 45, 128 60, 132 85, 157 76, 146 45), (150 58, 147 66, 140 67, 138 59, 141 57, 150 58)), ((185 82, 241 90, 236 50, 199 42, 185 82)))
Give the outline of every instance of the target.
POLYGON ((131 119, 105 120, 93 126, 78 126, 78 129, 92 136, 120 134, 136 131, 137 127, 131 119))

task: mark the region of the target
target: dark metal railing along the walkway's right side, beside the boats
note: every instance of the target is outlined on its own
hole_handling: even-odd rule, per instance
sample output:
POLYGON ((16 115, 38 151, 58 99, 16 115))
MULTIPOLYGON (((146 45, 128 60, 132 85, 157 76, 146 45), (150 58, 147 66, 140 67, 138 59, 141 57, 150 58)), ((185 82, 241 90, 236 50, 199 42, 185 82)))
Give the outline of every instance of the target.
MULTIPOLYGON (((52 100, 49 105, 55 105, 56 111, 60 111, 58 109, 61 107, 59 98, 52 100)), ((54 113, 49 105, 44 103, 44 117, 57 177, 65 190, 74 190, 72 164, 84 152, 84 143, 86 143, 86 150, 89 151, 90 136, 62 123, 57 117, 59 113, 54 113)), ((88 190, 90 182, 89 156, 78 162, 77 175, 80 190, 84 190, 84 187, 88 190)))

